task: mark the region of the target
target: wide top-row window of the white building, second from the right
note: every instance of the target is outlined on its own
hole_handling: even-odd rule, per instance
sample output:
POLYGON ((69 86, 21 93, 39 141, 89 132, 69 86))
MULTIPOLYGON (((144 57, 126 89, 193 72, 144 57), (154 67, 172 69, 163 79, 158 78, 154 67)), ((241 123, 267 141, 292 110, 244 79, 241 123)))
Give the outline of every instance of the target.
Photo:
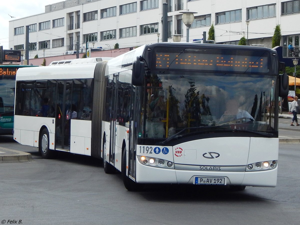
POLYGON ((276 16, 276 4, 262 5, 247 9, 248 19, 262 19, 276 16))

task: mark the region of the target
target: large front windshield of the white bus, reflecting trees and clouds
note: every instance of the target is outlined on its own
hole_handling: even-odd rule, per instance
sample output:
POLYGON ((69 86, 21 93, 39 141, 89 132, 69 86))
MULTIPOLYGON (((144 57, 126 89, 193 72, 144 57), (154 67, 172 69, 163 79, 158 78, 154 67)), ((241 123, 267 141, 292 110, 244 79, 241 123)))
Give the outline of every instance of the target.
POLYGON ((271 75, 153 71, 139 136, 163 141, 175 134, 276 135, 270 116, 275 82, 271 75))

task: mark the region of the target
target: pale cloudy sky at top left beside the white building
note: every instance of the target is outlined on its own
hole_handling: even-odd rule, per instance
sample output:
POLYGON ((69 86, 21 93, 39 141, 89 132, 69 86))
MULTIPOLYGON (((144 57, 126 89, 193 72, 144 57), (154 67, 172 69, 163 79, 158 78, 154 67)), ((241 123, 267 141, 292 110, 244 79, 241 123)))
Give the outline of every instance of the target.
POLYGON ((1 0, 0 3, 0 46, 8 48, 9 21, 45 12, 45 5, 63 0, 1 0), (10 16, 15 18, 11 18, 10 16))

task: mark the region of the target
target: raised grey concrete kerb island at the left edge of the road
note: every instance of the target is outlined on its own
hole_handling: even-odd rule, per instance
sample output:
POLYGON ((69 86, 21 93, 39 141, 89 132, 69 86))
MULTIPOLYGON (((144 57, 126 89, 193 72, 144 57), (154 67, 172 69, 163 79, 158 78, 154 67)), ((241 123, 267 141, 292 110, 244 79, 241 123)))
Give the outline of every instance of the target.
POLYGON ((27 152, 20 152, 13 149, 6 149, 0 147, 0 152, 10 152, 4 153, 4 155, 0 156, 0 163, 17 163, 17 162, 30 162, 32 161, 32 155, 27 152))

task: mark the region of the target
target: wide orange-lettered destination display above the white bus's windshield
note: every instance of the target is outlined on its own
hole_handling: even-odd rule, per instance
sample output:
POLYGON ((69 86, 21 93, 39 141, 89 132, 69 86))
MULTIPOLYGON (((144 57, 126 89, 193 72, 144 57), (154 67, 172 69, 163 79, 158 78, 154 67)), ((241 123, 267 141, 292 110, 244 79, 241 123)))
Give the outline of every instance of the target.
POLYGON ((263 56, 156 52, 155 68, 268 73, 267 65, 263 56))

